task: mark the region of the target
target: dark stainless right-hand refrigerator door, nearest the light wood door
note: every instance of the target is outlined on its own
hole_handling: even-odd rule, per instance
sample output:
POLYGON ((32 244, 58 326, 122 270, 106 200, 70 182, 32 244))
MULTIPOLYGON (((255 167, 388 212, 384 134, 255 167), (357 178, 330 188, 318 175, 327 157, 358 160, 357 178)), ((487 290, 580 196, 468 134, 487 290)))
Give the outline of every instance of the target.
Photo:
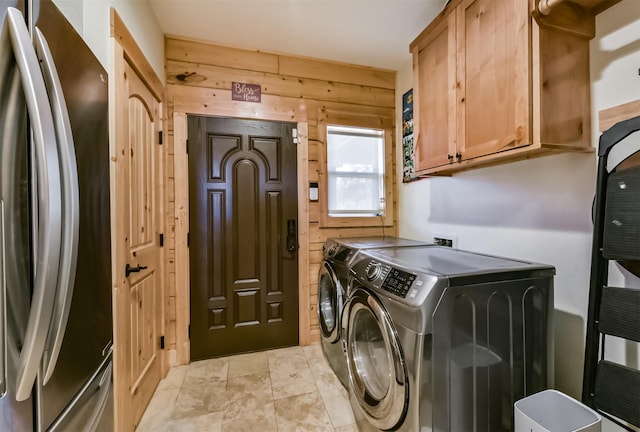
MULTIPOLYGON (((43 364, 38 387, 37 429, 45 431, 103 364, 112 340, 109 117, 107 73, 71 24, 50 0, 33 1, 32 20, 66 99, 79 186, 73 297, 55 368, 43 364)), ((55 343, 48 349, 45 360, 54 357, 55 343)))

